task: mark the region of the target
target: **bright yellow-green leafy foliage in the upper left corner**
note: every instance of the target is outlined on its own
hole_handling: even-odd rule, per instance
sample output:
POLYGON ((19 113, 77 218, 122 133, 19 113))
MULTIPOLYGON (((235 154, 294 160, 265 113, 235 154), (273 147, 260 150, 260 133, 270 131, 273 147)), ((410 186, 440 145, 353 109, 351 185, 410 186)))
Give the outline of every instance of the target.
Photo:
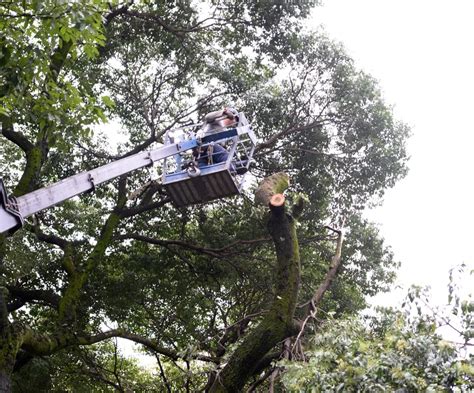
POLYGON ((87 135, 87 125, 105 119, 103 105, 71 69, 76 61, 95 58, 104 44, 99 12, 104 7, 100 1, 0 5, 0 103, 26 137, 60 128, 45 137, 66 149, 71 139, 87 135))

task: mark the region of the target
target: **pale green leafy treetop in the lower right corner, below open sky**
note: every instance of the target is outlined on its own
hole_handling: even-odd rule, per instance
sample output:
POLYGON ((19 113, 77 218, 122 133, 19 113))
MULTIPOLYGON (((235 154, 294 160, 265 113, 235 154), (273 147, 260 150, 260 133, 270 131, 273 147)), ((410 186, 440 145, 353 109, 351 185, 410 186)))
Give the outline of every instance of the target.
MULTIPOLYGON (((451 277, 453 277, 451 272, 451 277)), ((459 279, 459 277, 457 277, 459 279)), ((449 307, 413 287, 402 309, 365 317, 330 317, 311 338, 304 361, 282 363, 290 391, 470 391, 474 387, 474 303, 449 284, 449 307), (455 333, 454 341, 440 327, 455 333)), ((453 337, 453 335, 450 335, 453 337)), ((301 360, 301 359, 300 359, 301 360)))

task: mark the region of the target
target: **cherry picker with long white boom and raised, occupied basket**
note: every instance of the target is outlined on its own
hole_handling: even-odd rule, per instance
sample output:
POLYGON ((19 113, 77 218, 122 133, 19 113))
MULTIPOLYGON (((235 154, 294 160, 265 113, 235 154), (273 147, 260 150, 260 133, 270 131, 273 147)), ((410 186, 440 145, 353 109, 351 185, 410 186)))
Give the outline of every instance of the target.
POLYGON ((20 197, 9 196, 0 178, 0 233, 11 234, 35 213, 160 161, 162 184, 177 207, 239 194, 256 142, 245 114, 225 108, 209 113, 201 124, 169 130, 164 145, 156 149, 78 173, 20 197), (226 146, 225 159, 213 162, 213 147, 222 150, 222 145, 226 146), (203 151, 207 151, 205 165, 199 159, 203 151))

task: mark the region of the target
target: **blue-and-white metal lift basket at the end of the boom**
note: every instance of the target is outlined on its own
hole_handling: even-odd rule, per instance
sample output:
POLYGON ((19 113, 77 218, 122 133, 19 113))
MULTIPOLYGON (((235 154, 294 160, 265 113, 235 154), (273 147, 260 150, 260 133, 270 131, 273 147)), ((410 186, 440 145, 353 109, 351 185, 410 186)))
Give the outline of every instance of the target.
MULTIPOLYGON (((165 143, 181 143, 192 138, 193 132, 181 134, 179 142, 176 136, 167 135, 165 143)), ((211 163, 200 165, 197 169, 192 166, 195 158, 190 151, 165 159, 162 183, 177 207, 239 194, 243 186, 243 174, 249 168, 256 144, 255 135, 243 113, 239 113, 235 126, 197 139, 201 151, 209 149, 209 146, 212 148, 215 144, 225 145, 227 157, 225 161, 218 163, 213 163, 211 159, 211 163)))

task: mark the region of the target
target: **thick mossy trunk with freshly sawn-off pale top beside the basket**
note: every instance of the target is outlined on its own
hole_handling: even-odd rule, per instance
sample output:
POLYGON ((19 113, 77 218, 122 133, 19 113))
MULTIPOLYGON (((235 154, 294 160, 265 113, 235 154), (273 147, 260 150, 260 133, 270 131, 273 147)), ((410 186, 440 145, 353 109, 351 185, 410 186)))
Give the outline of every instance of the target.
POLYGON ((218 373, 211 392, 241 391, 265 355, 295 333, 293 316, 299 289, 300 257, 296 220, 286 213, 285 199, 281 194, 287 186, 288 176, 277 174, 265 179, 256 192, 256 200, 262 204, 267 202, 270 208, 267 227, 277 256, 272 305, 265 318, 243 339, 218 373))

